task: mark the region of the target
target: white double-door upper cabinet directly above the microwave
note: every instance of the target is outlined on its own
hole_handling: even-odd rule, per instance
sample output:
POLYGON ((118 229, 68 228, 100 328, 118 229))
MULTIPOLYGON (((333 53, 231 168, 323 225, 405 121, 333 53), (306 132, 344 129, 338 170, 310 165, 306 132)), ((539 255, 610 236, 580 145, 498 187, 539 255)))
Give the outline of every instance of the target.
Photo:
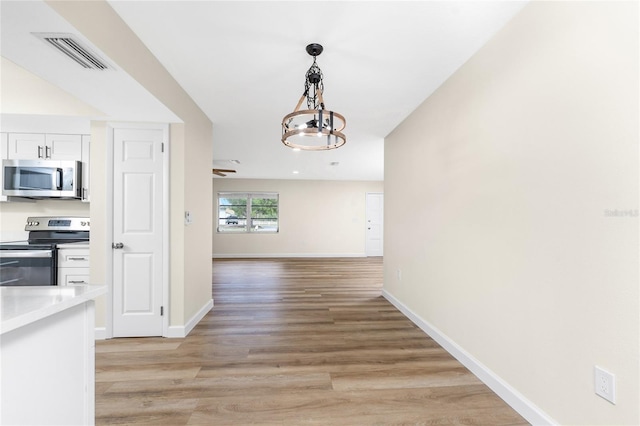
POLYGON ((82 135, 9 133, 10 160, 82 161, 82 135))

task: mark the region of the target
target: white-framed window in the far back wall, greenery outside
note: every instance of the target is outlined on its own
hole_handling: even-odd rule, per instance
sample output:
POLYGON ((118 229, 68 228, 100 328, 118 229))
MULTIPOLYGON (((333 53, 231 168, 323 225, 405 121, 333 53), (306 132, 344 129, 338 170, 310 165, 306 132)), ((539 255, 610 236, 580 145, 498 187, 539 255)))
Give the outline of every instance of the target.
POLYGON ((219 192, 218 232, 278 232, 278 194, 219 192))

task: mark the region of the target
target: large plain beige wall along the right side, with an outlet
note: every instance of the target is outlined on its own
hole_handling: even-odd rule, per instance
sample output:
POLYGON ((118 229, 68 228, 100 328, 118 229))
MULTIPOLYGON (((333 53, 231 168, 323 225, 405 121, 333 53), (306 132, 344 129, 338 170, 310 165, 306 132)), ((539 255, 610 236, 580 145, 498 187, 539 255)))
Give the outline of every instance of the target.
POLYGON ((560 424, 640 424, 638 73, 637 2, 533 2, 385 141, 385 291, 560 424))

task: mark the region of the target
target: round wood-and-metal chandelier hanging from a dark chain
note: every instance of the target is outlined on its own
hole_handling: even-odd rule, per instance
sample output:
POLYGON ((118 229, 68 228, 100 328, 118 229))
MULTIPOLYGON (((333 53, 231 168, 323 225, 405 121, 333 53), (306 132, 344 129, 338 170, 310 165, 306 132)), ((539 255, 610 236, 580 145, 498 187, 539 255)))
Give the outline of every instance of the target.
POLYGON ((344 117, 324 106, 322 71, 316 63, 322 50, 318 43, 307 46, 313 64, 305 75, 304 93, 293 112, 282 119, 282 143, 294 149, 321 151, 339 148, 347 142, 342 133, 346 125, 344 117), (307 109, 300 109, 305 99, 307 109))

